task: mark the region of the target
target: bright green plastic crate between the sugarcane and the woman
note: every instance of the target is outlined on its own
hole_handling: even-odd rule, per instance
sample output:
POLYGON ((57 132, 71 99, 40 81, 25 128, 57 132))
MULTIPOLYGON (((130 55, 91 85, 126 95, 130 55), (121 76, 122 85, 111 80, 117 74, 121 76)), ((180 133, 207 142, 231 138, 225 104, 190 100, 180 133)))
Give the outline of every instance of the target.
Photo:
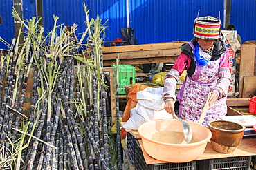
MULTIPOLYGON (((116 81, 116 65, 112 65, 115 68, 115 81, 116 81)), ((119 94, 125 94, 125 85, 135 83, 135 67, 132 65, 119 65, 119 94)))

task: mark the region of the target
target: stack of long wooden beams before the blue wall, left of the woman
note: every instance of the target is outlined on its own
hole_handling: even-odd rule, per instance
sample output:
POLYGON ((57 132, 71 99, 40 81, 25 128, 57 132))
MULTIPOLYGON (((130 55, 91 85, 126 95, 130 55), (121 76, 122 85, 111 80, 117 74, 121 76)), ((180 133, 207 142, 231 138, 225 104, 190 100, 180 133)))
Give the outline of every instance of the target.
MULTIPOLYGON (((116 64, 120 59, 120 65, 146 64, 146 63, 172 63, 181 53, 180 46, 185 41, 170 43, 155 43, 145 45, 125 45, 117 47, 103 47, 103 65, 116 64), (112 50, 111 50, 112 49, 112 50), (111 52, 111 53, 109 53, 111 52)), ((89 59, 89 54, 80 54, 84 59, 89 59)))

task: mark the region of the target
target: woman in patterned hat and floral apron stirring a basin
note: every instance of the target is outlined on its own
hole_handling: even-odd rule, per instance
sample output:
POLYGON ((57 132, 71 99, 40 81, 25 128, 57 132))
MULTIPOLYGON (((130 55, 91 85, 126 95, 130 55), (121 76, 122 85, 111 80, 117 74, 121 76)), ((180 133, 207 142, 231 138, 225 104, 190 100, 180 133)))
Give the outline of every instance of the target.
POLYGON ((210 108, 203 125, 226 115, 230 56, 225 42, 219 39, 220 31, 221 21, 217 18, 208 16, 194 20, 194 39, 181 46, 180 56, 165 76, 163 99, 168 113, 175 114, 176 83, 182 72, 187 70, 178 94, 179 116, 197 123, 209 94, 210 108))

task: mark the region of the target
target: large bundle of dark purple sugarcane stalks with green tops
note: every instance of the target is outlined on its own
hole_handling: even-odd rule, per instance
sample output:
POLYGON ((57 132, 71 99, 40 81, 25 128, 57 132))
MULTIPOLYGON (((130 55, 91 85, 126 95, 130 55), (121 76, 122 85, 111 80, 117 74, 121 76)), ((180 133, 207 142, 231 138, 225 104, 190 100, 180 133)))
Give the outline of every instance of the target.
POLYGON ((13 41, 8 55, 1 56, 0 79, 6 81, 0 83, 0 169, 115 169, 102 71, 105 26, 98 17, 89 21, 85 5, 84 11, 82 39, 90 39, 91 59, 75 55, 82 39, 63 45, 67 37, 57 17, 44 38, 35 17, 24 22, 12 10, 27 36, 23 45, 13 41), (33 74, 33 88, 30 111, 24 114, 28 74, 33 74))

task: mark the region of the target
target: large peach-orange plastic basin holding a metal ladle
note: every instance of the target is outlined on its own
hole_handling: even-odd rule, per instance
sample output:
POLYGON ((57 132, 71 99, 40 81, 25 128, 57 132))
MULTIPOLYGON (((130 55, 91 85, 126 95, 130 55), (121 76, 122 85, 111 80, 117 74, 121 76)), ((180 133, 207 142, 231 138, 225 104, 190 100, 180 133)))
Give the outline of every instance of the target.
MULTIPOLYGON (((189 144, 159 142, 152 140, 152 136, 158 131, 176 131, 183 133, 182 123, 176 119, 159 119, 143 123, 138 128, 138 134, 142 138, 145 151, 157 160, 167 162, 181 163, 190 162, 199 158, 205 151, 207 142, 212 137, 211 131, 198 123, 184 120, 188 122, 192 128, 192 138, 197 142, 189 144)), ((172 137, 170 137, 172 138, 172 137)), ((173 136, 175 138, 175 136, 173 136)))

